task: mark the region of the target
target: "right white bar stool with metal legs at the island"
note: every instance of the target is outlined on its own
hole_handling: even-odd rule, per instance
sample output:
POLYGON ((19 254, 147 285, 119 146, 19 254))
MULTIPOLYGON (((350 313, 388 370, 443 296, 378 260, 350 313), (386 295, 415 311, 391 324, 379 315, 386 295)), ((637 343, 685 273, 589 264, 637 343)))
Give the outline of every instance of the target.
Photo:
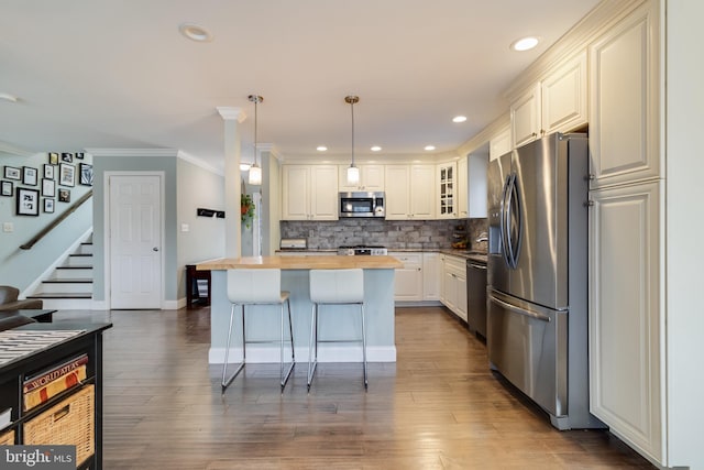
MULTIPOLYGON (((350 342, 350 340, 327 340, 318 338, 318 309, 320 305, 359 305, 362 315, 362 362, 364 364, 364 390, 366 380, 366 326, 364 324, 364 272, 353 270, 310 270, 310 345, 308 351, 308 392, 318 365, 319 342, 350 342)), ((359 341, 359 340, 358 340, 359 341)))

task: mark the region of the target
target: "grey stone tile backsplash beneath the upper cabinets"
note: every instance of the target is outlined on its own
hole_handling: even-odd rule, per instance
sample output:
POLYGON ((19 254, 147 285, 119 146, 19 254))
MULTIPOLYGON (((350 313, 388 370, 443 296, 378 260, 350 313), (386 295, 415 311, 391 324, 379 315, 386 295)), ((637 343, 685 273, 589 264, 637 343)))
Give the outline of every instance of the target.
POLYGON ((469 220, 378 220, 342 219, 337 221, 280 222, 282 238, 304 238, 311 250, 337 249, 341 245, 381 245, 389 250, 451 248, 460 234, 466 233, 468 248, 486 250, 476 243, 486 231, 486 219, 469 220), (457 234, 457 236, 455 236, 457 234))

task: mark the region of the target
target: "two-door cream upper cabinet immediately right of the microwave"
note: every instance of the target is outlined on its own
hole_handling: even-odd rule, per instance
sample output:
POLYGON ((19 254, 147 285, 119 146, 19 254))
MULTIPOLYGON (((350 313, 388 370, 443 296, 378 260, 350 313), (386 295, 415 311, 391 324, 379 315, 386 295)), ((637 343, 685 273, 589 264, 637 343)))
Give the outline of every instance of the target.
POLYGON ((435 165, 386 165, 386 219, 435 218, 435 165))

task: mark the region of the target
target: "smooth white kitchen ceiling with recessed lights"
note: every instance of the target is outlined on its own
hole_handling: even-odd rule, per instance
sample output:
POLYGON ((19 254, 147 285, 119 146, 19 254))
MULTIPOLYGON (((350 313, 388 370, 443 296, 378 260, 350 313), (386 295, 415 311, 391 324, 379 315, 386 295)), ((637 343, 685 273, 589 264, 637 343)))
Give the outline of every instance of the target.
POLYGON ((176 149, 223 167, 217 107, 242 157, 451 152, 508 109, 503 90, 596 0, 0 0, 0 143, 29 152, 176 149), (196 23, 212 34, 178 32, 196 23), (537 48, 509 44, 537 35, 537 48), (453 123, 457 114, 466 122, 453 123), (327 145, 324 154, 316 146, 327 145), (382 151, 372 153, 372 145, 382 151))

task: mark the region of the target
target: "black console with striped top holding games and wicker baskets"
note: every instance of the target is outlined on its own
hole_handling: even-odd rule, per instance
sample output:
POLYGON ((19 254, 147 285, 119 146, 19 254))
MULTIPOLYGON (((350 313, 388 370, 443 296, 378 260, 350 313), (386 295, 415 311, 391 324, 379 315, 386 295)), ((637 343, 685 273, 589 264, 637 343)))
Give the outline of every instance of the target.
POLYGON ((0 444, 76 445, 78 469, 102 467, 102 332, 110 327, 33 323, 0 332, 0 444), (32 379, 48 381, 47 371, 76 358, 85 378, 28 409, 32 379), (90 431, 76 437, 77 427, 90 431))

